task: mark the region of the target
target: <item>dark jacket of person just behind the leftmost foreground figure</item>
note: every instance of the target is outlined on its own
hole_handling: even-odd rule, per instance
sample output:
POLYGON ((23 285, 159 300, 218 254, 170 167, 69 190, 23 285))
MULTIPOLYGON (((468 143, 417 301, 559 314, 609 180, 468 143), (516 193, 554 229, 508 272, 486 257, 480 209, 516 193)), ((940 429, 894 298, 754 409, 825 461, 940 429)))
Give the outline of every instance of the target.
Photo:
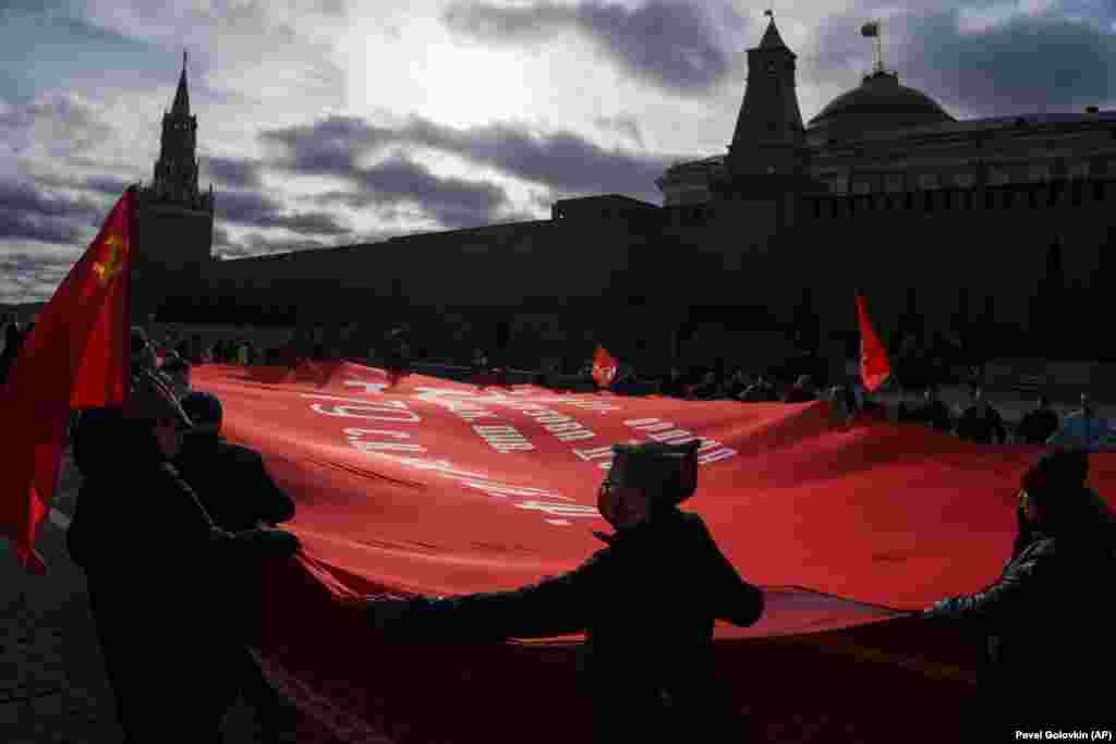
POLYGON ((176 461, 179 472, 213 521, 231 532, 295 516, 295 502, 268 474, 260 453, 214 433, 190 433, 176 461))

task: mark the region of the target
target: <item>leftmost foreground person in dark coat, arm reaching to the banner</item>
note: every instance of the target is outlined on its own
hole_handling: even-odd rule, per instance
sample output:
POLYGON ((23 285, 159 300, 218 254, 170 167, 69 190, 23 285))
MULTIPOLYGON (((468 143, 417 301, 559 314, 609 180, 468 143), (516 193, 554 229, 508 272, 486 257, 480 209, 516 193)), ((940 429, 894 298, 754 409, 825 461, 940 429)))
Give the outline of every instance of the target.
POLYGON ((171 464, 189 417, 157 378, 133 378, 124 407, 83 412, 84 476, 67 549, 89 602, 127 744, 220 741, 238 649, 254 640, 223 584, 230 567, 289 558, 281 530, 217 526, 171 464))

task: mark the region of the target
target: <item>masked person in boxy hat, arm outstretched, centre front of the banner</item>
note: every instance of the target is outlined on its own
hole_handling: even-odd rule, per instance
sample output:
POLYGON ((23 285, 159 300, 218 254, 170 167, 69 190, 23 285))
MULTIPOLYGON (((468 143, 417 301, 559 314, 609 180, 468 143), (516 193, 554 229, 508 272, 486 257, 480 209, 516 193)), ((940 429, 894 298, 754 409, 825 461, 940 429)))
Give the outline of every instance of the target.
POLYGON ((702 519, 679 510, 698 482, 699 443, 614 445, 598 509, 615 529, 577 569, 514 591, 372 600, 389 641, 496 642, 586 631, 579 671, 594 741, 740 741, 714 683, 713 621, 756 622, 763 593, 724 558, 702 519))

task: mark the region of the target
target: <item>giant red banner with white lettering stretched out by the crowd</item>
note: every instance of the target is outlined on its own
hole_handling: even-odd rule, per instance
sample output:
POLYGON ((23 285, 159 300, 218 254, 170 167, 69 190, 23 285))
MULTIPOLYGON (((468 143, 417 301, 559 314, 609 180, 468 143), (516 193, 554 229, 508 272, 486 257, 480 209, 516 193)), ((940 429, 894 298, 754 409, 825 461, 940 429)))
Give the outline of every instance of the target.
MULTIPOLYGON (((491 591, 574 568, 603 547, 591 532, 608 529, 595 504, 614 443, 703 442, 698 492, 684 506, 704 518, 724 554, 768 597, 758 625, 716 629, 741 699, 759 694, 745 676, 766 673, 745 675, 733 659, 800 661, 810 638, 836 638, 835 630, 896 618, 994 580, 1011 548, 1019 474, 1036 453, 921 427, 846 429, 824 403, 479 390, 417 375, 387 388, 382 370, 348 364, 205 366, 194 381, 224 403, 227 436, 259 450, 298 504, 290 529, 304 554, 269 577, 264 650, 302 682, 317 680, 307 699, 333 700, 373 729, 391 729, 394 741, 523 741, 521 726, 546 706, 516 675, 540 674, 545 682, 523 684, 541 685, 551 702, 575 699, 562 650, 568 640, 483 651, 392 649, 378 646, 352 600, 491 591), (751 639, 763 639, 762 647, 751 639), (479 678, 488 682, 478 687, 479 678), (441 704, 453 711, 452 725, 419 713, 425 703, 416 700, 435 689, 458 700, 441 704), (483 707, 475 696, 485 695, 500 726, 463 709, 465 699, 483 707)), ((1101 490, 1116 475, 1113 462, 1093 456, 1091 481, 1101 490)), ((873 666, 863 644, 850 640, 856 632, 841 632, 831 646, 860 654, 858 663, 868 664, 862 673, 870 667, 886 679, 881 669, 887 668, 915 686, 971 682, 949 666, 956 659, 945 660, 954 671, 936 677, 941 668, 925 655, 902 671, 901 661, 892 664, 910 659, 902 654, 877 655, 873 666)), ((812 679, 825 678, 822 657, 831 665, 831 655, 811 656, 812 679)), ((797 689, 809 684, 799 679, 797 689)), ((855 715, 847 694, 829 690, 828 699, 855 715)), ((530 738, 575 736, 576 718, 552 721, 546 736, 530 738)), ((339 725, 330 724, 335 737, 360 738, 352 728, 338 733, 339 725)))

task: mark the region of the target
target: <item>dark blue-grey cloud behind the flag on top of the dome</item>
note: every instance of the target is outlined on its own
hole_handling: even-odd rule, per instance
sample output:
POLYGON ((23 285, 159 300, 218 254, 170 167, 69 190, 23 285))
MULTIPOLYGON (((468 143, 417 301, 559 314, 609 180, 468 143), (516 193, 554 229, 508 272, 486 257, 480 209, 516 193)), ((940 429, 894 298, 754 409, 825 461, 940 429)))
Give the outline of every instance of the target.
MULTIPOLYGON (((968 3, 970 9, 993 3, 968 3)), ((1065 10, 1065 9, 1062 9, 1065 10)), ((873 51, 858 29, 865 11, 831 16, 818 33, 809 83, 854 88, 873 51)), ((962 30, 961 11, 934 7, 887 21, 884 62, 899 83, 917 88, 958 118, 1080 110, 1112 103, 1116 35, 1107 16, 1070 20, 1059 13, 1017 15, 980 30, 962 30), (1091 18, 1091 20, 1090 20, 1091 18)))

